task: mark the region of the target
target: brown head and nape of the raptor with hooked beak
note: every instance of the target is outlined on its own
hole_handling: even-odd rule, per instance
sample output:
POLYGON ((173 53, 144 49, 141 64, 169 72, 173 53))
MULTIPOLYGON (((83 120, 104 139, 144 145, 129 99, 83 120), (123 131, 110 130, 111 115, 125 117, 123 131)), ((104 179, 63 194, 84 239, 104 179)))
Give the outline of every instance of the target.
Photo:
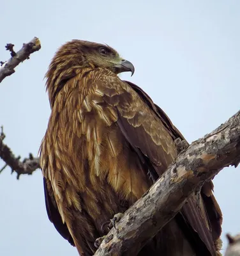
POLYGON ((115 74, 130 71, 132 76, 134 73, 133 64, 121 58, 109 45, 82 40, 72 40, 62 45, 52 58, 46 74, 51 106, 57 93, 68 79, 77 74, 77 70, 99 67, 107 68, 115 74))

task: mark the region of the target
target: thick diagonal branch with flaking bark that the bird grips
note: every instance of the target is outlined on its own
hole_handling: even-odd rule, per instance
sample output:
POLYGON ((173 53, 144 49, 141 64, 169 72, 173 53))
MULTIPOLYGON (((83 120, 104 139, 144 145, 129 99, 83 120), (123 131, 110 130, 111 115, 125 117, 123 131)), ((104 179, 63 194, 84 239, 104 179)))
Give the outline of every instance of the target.
POLYGON ((94 254, 137 255, 206 180, 240 161, 240 111, 216 130, 191 143, 133 204, 94 254))

